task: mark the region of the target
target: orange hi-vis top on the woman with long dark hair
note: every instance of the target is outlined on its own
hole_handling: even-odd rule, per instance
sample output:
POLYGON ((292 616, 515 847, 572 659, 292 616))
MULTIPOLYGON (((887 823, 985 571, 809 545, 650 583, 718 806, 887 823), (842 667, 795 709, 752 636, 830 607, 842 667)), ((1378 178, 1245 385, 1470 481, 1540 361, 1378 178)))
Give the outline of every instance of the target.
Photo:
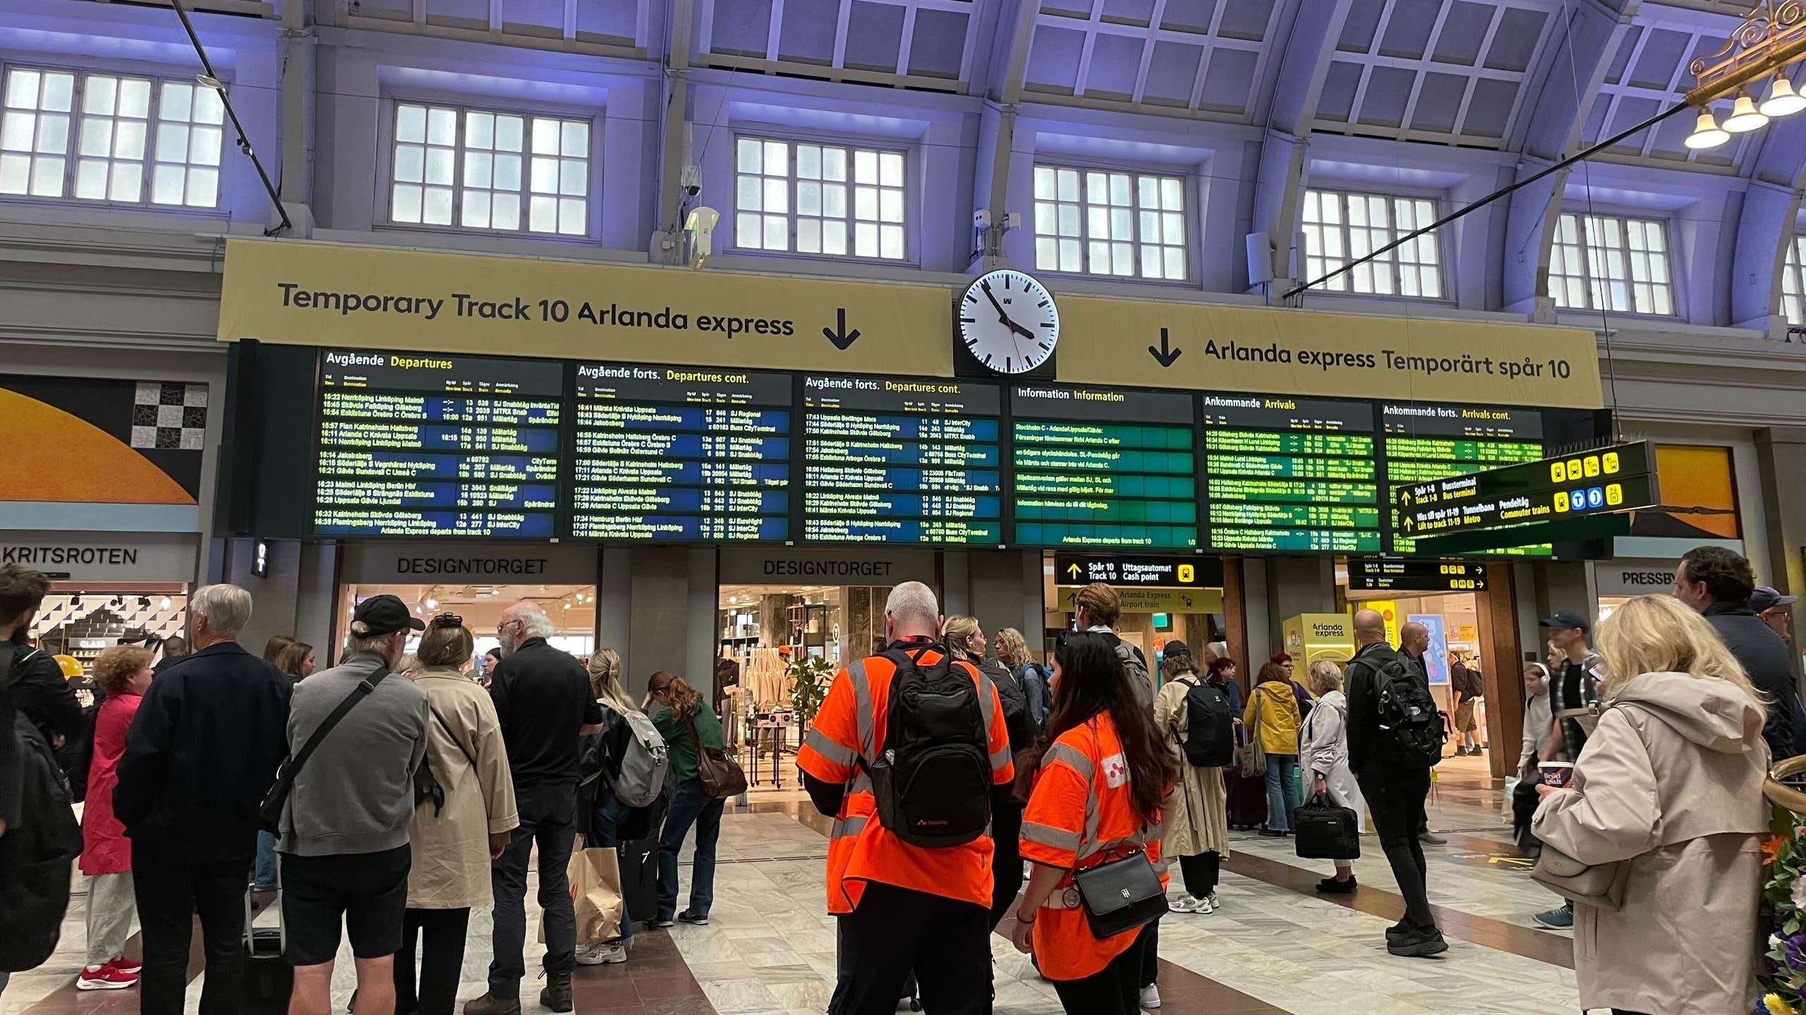
POLYGON ((1067 872, 1035 914, 1035 959, 1051 981, 1102 972, 1140 936, 1138 928, 1098 941, 1078 905, 1073 871, 1145 849, 1159 883, 1167 883, 1159 820, 1141 825, 1129 780, 1129 760, 1109 713, 1060 733, 1035 773, 1035 791, 1022 813, 1022 860, 1067 872))

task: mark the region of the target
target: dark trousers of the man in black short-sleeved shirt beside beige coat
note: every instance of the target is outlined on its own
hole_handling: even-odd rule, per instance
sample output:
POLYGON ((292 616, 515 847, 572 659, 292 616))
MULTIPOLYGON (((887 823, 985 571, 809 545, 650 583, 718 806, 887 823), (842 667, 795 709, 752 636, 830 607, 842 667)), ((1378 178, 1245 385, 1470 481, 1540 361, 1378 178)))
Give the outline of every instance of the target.
POLYGON ((571 847, 576 843, 576 784, 517 786, 520 827, 507 840, 502 858, 489 865, 495 892, 495 959, 489 963, 489 993, 518 997, 527 975, 527 858, 540 845, 540 908, 545 927, 545 972, 567 977, 576 968, 576 907, 571 903, 571 847))

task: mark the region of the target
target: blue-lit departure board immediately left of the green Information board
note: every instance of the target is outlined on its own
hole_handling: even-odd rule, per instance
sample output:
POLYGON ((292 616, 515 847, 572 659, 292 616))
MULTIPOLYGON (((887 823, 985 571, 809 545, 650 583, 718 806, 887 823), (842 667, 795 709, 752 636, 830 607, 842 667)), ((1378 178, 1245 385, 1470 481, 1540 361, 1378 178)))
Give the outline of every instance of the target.
POLYGON ((804 538, 997 545, 993 385, 804 376, 804 538))

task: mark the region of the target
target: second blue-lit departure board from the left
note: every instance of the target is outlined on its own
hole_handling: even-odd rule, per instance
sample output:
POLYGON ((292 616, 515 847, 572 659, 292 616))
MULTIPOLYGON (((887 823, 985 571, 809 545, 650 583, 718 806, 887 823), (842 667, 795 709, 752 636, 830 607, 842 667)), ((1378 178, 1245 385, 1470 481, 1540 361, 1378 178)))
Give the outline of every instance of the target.
POLYGON ((571 535, 787 540, 791 376, 580 363, 571 535))

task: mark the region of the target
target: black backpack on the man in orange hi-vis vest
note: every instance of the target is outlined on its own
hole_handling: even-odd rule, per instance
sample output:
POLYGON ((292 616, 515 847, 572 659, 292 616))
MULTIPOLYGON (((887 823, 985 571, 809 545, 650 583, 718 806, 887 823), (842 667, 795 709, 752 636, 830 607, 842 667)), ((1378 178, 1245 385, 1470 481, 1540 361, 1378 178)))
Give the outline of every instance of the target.
MULTIPOLYGON (((941 645, 885 652, 890 677, 885 746, 870 762, 878 824, 907 845, 945 849, 977 840, 991 822, 991 755, 979 681, 941 645), (941 659, 921 668, 926 652, 941 659)), ((863 663, 861 663, 863 666, 863 663)))

